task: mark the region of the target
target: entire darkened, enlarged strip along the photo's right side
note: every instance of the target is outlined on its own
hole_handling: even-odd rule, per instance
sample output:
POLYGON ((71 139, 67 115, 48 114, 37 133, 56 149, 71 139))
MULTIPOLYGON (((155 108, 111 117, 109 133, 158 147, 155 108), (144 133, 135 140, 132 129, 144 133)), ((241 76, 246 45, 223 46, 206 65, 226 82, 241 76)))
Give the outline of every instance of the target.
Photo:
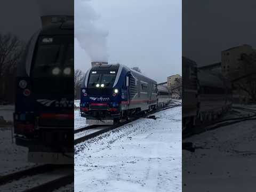
POLYGON ((182 1, 182 191, 251 191, 254 1, 182 1))

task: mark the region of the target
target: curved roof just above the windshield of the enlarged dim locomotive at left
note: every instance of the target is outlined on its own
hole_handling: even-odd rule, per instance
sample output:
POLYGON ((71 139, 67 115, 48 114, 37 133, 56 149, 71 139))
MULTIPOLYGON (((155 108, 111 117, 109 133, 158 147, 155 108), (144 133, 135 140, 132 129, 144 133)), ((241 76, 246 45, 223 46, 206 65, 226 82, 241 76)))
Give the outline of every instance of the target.
POLYGON ((74 35, 74 21, 52 23, 43 27, 40 35, 74 35))

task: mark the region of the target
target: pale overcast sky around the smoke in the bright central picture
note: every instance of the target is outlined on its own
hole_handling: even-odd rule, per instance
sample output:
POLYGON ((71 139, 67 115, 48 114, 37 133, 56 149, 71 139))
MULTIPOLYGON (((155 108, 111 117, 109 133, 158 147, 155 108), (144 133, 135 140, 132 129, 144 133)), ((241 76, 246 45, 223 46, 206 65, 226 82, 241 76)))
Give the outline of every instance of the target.
MULTIPOLYGON (((181 74, 181 1, 89 3, 100 15, 95 25, 108 31, 109 63, 138 66, 143 74, 159 83, 166 81, 167 76, 181 74)), ((86 71, 90 62, 75 39, 75 68, 86 71)))

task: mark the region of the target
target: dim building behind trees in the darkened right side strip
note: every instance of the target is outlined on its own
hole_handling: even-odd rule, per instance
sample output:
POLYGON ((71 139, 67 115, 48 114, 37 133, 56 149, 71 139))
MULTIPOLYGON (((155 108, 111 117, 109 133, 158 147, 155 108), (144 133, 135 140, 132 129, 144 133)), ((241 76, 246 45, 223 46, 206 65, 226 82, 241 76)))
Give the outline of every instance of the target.
POLYGON ((221 52, 221 71, 233 85, 233 102, 255 102, 256 50, 250 45, 221 52))

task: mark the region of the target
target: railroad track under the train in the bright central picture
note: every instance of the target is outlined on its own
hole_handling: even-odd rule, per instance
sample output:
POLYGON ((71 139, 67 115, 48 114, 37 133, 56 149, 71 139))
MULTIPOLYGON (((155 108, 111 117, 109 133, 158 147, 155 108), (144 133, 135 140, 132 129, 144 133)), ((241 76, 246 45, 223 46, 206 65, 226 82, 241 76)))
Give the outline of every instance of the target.
POLYGON ((131 123, 131 122, 133 122, 133 121, 135 121, 139 118, 147 117, 147 116, 152 115, 154 113, 157 113, 159 111, 166 110, 166 109, 171 109, 171 108, 174 108, 174 107, 179 107, 181 105, 182 104, 179 103, 177 105, 171 105, 171 106, 166 106, 166 107, 163 107, 163 108, 160 108, 160 109, 156 109, 154 111, 150 111, 150 113, 147 113, 147 114, 141 114, 141 115, 138 115, 138 116, 131 117, 130 119, 128 119, 124 122, 115 124, 115 125, 106 125, 106 126, 91 125, 91 126, 82 127, 82 128, 79 129, 81 131, 76 131, 76 133, 79 133, 79 132, 82 132, 82 131, 85 131, 85 130, 87 131, 87 133, 85 133, 82 137, 77 137, 77 138, 76 138, 76 135, 75 135, 74 144, 77 145, 78 143, 81 143, 81 142, 84 142, 88 139, 97 137, 98 135, 100 135, 102 133, 108 132, 110 130, 114 130, 114 129, 122 126, 122 125, 125 125, 127 123, 131 123), (90 131, 88 131, 88 130, 90 130, 90 131))

